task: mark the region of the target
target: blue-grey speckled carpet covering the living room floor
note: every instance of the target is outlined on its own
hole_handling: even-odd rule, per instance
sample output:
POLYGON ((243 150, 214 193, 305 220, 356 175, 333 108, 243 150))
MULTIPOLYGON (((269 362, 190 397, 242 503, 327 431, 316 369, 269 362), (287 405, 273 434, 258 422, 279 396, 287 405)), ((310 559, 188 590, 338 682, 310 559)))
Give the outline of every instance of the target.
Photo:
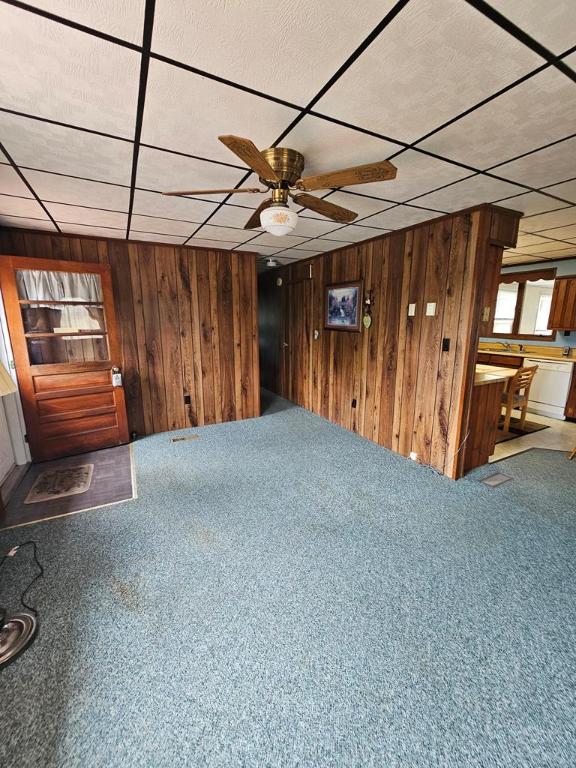
POLYGON ((46 569, 3 768, 576 764, 576 462, 453 483, 278 400, 195 432, 135 444, 140 498, 0 534, 46 569))

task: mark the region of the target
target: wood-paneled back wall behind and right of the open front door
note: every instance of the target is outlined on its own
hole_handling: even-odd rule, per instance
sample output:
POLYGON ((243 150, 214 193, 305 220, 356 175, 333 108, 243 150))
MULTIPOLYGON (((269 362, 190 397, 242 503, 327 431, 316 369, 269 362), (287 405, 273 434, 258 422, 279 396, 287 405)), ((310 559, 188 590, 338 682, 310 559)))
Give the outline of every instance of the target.
POLYGON ((2 253, 110 264, 131 431, 260 415, 254 254, 19 229, 2 253))

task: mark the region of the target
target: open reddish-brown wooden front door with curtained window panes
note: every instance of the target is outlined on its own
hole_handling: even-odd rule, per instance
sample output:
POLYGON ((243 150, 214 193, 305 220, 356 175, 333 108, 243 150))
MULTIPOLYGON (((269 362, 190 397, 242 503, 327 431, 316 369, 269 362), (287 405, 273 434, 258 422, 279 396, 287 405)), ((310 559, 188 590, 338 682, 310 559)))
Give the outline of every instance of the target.
POLYGON ((0 256, 0 287, 33 460, 128 442, 110 267, 0 256))

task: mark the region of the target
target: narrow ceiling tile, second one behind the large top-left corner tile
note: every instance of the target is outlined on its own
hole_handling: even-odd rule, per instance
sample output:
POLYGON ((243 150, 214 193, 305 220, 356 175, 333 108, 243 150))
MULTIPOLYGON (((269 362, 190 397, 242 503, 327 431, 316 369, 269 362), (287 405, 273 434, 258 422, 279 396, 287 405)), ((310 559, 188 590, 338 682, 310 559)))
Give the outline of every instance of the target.
POLYGON ((32 188, 42 200, 53 203, 76 203, 94 208, 127 211, 130 190, 113 184, 57 176, 42 171, 23 171, 32 188))

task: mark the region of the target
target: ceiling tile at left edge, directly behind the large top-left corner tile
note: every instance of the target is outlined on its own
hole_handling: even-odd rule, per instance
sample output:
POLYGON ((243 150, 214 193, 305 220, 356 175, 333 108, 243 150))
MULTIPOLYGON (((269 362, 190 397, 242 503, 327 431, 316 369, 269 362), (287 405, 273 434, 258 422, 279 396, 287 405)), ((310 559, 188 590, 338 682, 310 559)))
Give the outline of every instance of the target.
POLYGON ((40 123, 5 112, 0 112, 0 136, 18 165, 130 184, 130 142, 40 123))

